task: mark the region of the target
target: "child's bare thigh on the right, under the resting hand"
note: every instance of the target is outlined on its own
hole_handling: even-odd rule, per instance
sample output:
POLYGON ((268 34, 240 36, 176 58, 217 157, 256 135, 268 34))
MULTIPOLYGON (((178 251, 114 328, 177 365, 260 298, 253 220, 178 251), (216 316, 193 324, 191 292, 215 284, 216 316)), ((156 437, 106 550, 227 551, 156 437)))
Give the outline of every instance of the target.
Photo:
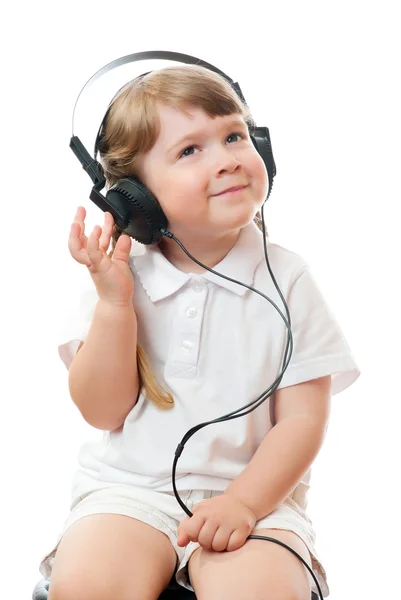
MULTIPOLYGON (((311 566, 309 550, 292 531, 259 529, 284 542, 311 566)), ((189 561, 189 577, 198 600, 310 600, 311 577, 292 552, 265 540, 248 540, 233 552, 198 548, 189 561)))

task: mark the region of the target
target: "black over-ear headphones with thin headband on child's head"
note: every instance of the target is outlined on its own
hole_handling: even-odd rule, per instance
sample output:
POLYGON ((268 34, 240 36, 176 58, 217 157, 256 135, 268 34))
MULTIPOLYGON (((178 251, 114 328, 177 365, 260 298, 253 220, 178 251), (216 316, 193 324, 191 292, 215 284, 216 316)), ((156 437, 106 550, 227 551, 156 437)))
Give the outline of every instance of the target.
MULTIPOLYGON (((189 56, 188 54, 152 50, 149 52, 137 52, 135 54, 123 56, 97 71, 81 89, 75 103, 74 114, 76 105, 84 89, 101 75, 126 63, 150 59, 172 60, 186 64, 199 65, 210 69, 224 77, 224 79, 226 79, 234 88, 240 100, 246 104, 239 84, 234 83, 228 75, 213 65, 200 60, 199 58, 195 58, 194 56, 189 56)), ((147 74, 148 73, 145 73, 144 75, 147 74)), ((143 77, 144 75, 140 75, 140 77, 143 77)), ((74 135, 74 115, 70 148, 94 183, 89 196, 90 199, 101 210, 104 212, 108 211, 113 215, 115 224, 123 233, 126 233, 142 244, 157 243, 164 235, 163 231, 165 231, 167 227, 167 219, 155 196, 142 182, 136 177, 124 177, 119 179, 107 191, 106 196, 100 193, 100 190, 102 190, 106 184, 106 178, 104 176, 102 165, 96 158, 103 124, 107 118, 109 109, 110 106, 103 117, 98 131, 93 158, 90 156, 81 140, 74 135)), ((276 165, 273 158, 269 130, 267 127, 252 127, 252 130, 249 130, 249 134, 253 145, 263 159, 269 176, 267 200, 271 192, 274 176, 276 175, 276 165)))

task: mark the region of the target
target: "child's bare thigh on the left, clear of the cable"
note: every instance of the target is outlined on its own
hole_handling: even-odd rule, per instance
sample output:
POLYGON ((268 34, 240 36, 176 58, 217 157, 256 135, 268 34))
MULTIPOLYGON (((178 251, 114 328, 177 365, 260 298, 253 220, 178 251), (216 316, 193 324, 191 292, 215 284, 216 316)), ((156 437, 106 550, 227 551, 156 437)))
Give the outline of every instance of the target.
POLYGON ((62 537, 49 600, 156 600, 174 573, 168 537, 131 517, 83 517, 62 537))

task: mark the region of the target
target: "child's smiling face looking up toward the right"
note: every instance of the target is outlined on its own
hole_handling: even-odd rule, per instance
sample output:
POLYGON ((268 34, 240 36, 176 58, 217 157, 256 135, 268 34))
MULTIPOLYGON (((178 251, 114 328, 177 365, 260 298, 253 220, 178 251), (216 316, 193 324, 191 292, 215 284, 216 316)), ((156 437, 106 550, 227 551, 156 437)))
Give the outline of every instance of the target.
POLYGON ((211 118, 194 106, 186 112, 158 109, 160 134, 138 157, 137 172, 160 202, 169 229, 180 239, 245 227, 266 198, 268 176, 242 116, 211 118), (246 187, 221 194, 236 186, 246 187))

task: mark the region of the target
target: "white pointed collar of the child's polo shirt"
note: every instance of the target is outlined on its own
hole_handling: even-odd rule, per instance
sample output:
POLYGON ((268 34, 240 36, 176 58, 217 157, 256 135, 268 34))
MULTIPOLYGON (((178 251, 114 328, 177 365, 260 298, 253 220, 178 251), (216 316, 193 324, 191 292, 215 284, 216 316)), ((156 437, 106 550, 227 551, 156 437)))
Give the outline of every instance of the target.
MULTIPOLYGON (((268 240, 266 243, 268 244, 268 240)), ((213 270, 251 285, 261 260, 264 260, 263 233, 252 221, 241 229, 233 248, 213 270)), ((184 273, 165 258, 158 246, 144 246, 135 241, 130 253, 130 266, 138 274, 152 302, 171 296, 190 279, 211 281, 239 296, 243 296, 247 291, 247 288, 209 271, 202 274, 184 273)))

